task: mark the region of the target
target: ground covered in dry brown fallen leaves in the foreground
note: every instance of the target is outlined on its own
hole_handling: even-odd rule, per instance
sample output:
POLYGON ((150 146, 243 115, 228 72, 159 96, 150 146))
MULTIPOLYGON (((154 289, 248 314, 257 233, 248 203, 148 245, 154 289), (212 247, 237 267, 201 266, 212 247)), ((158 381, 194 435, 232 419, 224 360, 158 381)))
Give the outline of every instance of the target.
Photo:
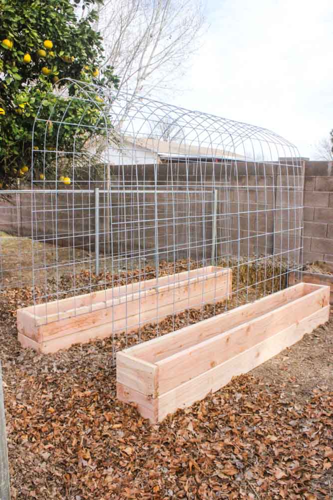
POLYGON ((29 289, 0 295, 12 498, 332 500, 333 317, 150 425, 116 400, 110 340, 53 355, 19 346, 14 311, 30 302, 29 289))

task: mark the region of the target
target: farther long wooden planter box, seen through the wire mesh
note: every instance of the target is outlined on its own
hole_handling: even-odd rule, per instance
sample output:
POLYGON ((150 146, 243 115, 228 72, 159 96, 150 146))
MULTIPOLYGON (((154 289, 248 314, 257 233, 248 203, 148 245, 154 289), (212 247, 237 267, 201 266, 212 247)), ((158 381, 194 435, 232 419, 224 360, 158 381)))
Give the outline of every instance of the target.
POLYGON ((129 333, 188 307, 227 300, 232 271, 207 266, 17 310, 18 340, 38 352, 129 333))

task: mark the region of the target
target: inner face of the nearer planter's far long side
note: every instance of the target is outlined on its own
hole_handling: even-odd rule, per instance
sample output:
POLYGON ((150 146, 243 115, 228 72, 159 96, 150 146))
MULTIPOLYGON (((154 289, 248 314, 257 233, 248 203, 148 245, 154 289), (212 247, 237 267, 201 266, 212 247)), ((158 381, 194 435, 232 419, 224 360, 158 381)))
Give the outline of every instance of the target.
POLYGON ((200 321, 200 323, 186 326, 181 330, 176 330, 162 337, 129 347, 124 352, 145 359, 146 361, 159 361, 181 349, 211 338, 217 333, 227 331, 239 324, 259 317, 263 313, 271 311, 286 302, 300 298, 303 296, 303 290, 303 283, 298 283, 293 287, 278 291, 272 295, 267 295, 255 302, 241 305, 225 313, 200 321))

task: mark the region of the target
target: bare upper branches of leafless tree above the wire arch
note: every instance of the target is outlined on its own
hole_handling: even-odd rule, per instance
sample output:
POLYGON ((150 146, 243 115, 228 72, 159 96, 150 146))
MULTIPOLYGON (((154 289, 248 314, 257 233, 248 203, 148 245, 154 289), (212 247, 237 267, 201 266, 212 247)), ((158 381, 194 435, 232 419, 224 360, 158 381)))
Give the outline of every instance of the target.
POLYGON ((206 29, 203 1, 104 1, 98 28, 120 89, 156 97, 177 88, 206 29))

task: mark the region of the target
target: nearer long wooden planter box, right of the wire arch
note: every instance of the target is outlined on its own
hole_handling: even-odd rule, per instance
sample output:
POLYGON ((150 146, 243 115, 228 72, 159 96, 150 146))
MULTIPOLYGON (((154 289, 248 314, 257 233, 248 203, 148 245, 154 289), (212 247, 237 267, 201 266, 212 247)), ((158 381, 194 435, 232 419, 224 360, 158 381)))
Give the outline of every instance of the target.
POLYGON ((117 397, 151 422, 203 399, 329 319, 328 286, 299 283, 117 353, 117 397))

